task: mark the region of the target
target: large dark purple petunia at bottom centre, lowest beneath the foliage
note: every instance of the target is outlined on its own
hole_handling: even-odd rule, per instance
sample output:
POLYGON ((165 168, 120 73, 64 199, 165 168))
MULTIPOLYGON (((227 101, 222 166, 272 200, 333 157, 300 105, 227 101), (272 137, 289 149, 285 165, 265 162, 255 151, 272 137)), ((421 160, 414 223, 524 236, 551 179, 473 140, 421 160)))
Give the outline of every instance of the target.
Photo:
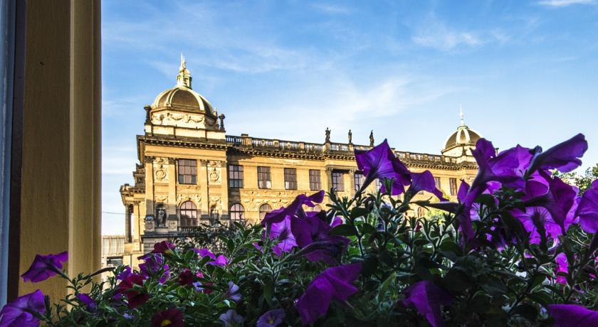
POLYGON ((304 325, 326 314, 330 301, 345 301, 357 291, 351 283, 361 272, 361 264, 345 264, 330 267, 319 274, 295 304, 304 325))

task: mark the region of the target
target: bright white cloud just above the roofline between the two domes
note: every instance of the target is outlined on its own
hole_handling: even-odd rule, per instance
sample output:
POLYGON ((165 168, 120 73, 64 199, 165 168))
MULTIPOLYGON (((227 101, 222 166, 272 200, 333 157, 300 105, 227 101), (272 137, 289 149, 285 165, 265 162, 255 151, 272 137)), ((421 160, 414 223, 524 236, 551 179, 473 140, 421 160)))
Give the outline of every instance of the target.
MULTIPOLYGON (((235 119, 227 124, 231 133, 248 132, 257 137, 322 142, 322 135, 313 131, 332 129, 332 141, 345 141, 349 128, 388 129, 388 122, 402 112, 419 104, 434 102, 457 87, 446 87, 429 83, 418 77, 389 73, 375 81, 363 82, 349 77, 332 77, 315 90, 301 90, 285 97, 280 106, 253 107, 250 104, 242 112, 235 113, 235 119), (256 116, 255 112, 260 112, 256 116), (293 117, 289 124, 288 113, 293 117), (268 117, 262 119, 261 117, 268 117), (338 131, 344 131, 342 133, 338 131)), ((362 133, 363 134, 363 133, 362 133)), ((355 142, 360 143, 355 134, 355 142)), ((367 135, 365 135, 367 136, 367 135)), ((365 139, 365 137, 363 138, 365 139)), ((363 140, 362 140, 363 142, 363 140)))

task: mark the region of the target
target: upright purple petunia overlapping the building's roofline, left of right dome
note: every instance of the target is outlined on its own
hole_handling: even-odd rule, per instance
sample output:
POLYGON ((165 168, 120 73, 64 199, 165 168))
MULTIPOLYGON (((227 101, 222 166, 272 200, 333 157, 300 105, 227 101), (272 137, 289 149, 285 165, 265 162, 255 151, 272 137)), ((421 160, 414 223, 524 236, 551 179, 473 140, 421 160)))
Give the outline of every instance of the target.
MULTIPOLYGON (((355 150, 355 161, 357 161, 357 168, 363 171, 365 181, 362 184, 362 189, 379 179, 384 181, 384 178, 392 179, 392 195, 399 195, 405 191, 405 186, 411 183, 411 175, 407 167, 399 160, 386 139, 374 146, 374 148, 367 151, 355 150)), ((385 192, 382 186, 382 192, 385 192)))

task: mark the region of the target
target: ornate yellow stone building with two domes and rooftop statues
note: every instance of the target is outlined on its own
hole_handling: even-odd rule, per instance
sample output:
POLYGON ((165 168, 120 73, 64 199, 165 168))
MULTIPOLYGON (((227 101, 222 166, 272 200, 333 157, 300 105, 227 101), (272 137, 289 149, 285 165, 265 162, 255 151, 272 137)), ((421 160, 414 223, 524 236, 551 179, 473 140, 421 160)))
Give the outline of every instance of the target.
MULTIPOLYGON (((328 129, 322 144, 226 135, 224 114, 192 90, 184 59, 177 85, 160 93, 145 111, 145 133, 137 136, 135 184, 120 188, 126 211, 125 261, 132 261, 125 264, 136 265, 136 254, 150 251, 154 242, 184 235, 201 223, 256 223, 300 193, 334 187, 350 196, 364 180, 353 150, 374 144, 373 134, 369 146, 352 144, 351 133, 347 143, 335 143, 328 129)), ((461 114, 442 154, 395 154, 412 171, 430 170, 437 186, 454 199, 458 180, 475 176, 471 148, 480 137, 466 127, 461 114)))

